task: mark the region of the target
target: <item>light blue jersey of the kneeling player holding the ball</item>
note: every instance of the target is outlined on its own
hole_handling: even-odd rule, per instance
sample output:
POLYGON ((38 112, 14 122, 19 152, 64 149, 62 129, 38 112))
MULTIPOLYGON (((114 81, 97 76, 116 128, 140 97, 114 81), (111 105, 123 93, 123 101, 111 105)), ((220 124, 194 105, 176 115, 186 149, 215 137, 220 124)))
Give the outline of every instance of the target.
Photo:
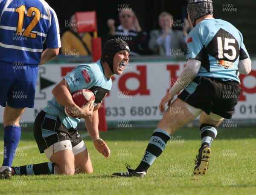
MULTIPOLYGON (((95 63, 85 63, 76 66, 64 79, 70 87, 71 93, 80 89, 89 89, 92 91, 95 96, 94 106, 102 102, 102 99, 110 91, 112 86, 112 80, 108 80, 104 75, 100 60, 95 63)), ((48 118, 56 120, 58 116, 67 129, 71 127, 76 128, 77 123, 80 121, 78 118, 67 116, 64 111, 64 106, 61 106, 61 104, 56 101, 55 97, 47 101, 47 107, 45 107, 43 111, 48 113, 48 118)))

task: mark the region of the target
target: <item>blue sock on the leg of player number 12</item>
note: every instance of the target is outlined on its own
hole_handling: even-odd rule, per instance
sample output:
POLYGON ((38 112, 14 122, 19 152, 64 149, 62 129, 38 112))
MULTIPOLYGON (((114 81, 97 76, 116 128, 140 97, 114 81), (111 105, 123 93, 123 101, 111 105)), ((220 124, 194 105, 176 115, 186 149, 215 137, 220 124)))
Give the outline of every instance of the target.
POLYGON ((3 165, 12 166, 12 161, 20 141, 21 128, 20 126, 9 125, 4 128, 3 136, 3 165))

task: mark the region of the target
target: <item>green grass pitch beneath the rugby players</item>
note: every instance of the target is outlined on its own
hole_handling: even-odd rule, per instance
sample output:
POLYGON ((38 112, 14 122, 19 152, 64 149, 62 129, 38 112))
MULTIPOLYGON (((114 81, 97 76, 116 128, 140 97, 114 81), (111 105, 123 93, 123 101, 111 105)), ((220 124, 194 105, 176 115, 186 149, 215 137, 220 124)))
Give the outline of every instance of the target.
MULTIPOLYGON (((111 149, 105 159, 84 138, 94 167, 93 174, 13 176, 1 180, 0 194, 12 195, 253 195, 256 194, 256 133, 253 128, 218 129, 212 143, 209 169, 204 176, 192 176, 195 156, 201 145, 199 130, 181 129, 148 169, 145 178, 112 178, 125 172, 125 163, 136 168, 154 129, 116 129, 102 132, 111 149)), ((0 129, 3 149, 3 128, 0 129)), ((86 131, 79 131, 82 135, 86 131)), ((3 150, 0 150, 3 159, 3 150)), ((32 130, 22 132, 13 166, 47 162, 40 154, 32 130)))

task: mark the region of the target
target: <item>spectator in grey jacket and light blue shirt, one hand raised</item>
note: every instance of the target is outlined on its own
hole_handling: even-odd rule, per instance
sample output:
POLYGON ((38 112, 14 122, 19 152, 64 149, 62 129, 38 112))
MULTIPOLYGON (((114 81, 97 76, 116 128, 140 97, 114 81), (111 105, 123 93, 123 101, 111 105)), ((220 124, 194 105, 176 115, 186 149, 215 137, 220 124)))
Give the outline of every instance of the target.
POLYGON ((162 12, 158 17, 161 29, 150 32, 148 47, 155 55, 170 56, 171 51, 180 51, 186 54, 186 40, 190 28, 189 21, 184 19, 183 31, 172 29, 173 17, 168 12, 162 12))

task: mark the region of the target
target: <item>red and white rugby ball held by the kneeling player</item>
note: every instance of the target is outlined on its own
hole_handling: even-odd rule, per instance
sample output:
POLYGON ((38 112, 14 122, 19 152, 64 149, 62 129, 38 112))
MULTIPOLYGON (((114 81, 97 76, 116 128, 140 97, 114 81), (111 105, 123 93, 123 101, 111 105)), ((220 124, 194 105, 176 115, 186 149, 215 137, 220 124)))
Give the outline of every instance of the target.
MULTIPOLYGON (((89 109, 93 107, 93 103, 95 100, 95 97, 93 95, 93 92, 91 92, 88 89, 81 89, 77 92, 74 92, 72 95, 73 101, 76 103, 77 106, 80 108, 84 106, 89 100, 92 100, 92 103, 89 106, 89 109)), ((65 113, 66 115, 72 117, 72 118, 78 118, 76 116, 78 111, 76 111, 75 108, 72 107, 65 107, 65 113)))

